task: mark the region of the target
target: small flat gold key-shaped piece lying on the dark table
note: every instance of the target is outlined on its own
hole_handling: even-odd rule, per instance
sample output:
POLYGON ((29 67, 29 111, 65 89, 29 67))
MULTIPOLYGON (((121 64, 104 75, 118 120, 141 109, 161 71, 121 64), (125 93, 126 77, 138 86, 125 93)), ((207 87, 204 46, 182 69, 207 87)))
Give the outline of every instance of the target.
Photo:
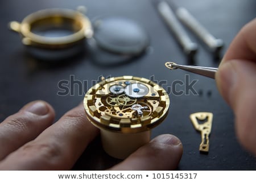
POLYGON ((201 152, 209 151, 209 135, 212 129, 212 118, 213 114, 207 112, 193 113, 190 115, 193 126, 197 131, 201 132, 202 142, 199 147, 201 152))

